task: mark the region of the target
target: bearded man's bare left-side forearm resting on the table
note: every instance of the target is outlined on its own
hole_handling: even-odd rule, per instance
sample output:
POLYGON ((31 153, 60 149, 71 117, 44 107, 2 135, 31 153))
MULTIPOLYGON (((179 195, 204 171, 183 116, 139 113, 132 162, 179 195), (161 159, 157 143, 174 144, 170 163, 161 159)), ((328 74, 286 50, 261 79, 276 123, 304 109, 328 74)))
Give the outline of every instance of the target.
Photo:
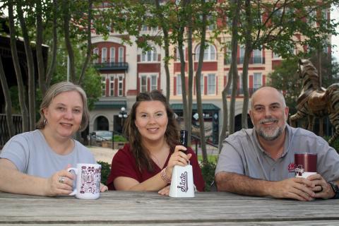
POLYGON ((232 172, 218 172, 215 175, 215 182, 218 191, 248 196, 272 196, 271 187, 274 183, 232 172))

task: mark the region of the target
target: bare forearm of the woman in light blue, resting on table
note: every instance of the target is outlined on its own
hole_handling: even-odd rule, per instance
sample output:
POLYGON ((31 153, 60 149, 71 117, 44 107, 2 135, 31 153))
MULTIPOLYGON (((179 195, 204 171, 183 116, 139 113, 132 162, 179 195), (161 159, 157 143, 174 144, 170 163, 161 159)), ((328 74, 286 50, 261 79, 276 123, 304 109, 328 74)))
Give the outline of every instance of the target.
POLYGON ((44 196, 46 179, 23 174, 17 169, 0 165, 0 191, 15 194, 44 196))

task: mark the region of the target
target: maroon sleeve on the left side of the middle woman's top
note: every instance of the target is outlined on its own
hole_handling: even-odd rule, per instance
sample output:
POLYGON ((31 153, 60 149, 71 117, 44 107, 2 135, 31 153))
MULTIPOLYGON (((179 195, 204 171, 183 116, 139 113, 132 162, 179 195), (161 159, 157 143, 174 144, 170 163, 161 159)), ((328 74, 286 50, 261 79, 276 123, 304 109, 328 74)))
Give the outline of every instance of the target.
POLYGON ((120 149, 112 160, 111 173, 107 179, 108 188, 114 190, 113 182, 117 177, 130 177, 139 181, 137 171, 136 163, 129 150, 120 149))

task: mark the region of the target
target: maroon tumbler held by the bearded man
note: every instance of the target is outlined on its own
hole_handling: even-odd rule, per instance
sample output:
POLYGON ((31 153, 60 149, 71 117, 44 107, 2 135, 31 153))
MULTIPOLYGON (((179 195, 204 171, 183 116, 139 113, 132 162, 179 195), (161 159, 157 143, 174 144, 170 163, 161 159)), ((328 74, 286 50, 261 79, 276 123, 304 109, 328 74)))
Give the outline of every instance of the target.
POLYGON ((316 153, 295 153, 295 174, 316 172, 316 153))

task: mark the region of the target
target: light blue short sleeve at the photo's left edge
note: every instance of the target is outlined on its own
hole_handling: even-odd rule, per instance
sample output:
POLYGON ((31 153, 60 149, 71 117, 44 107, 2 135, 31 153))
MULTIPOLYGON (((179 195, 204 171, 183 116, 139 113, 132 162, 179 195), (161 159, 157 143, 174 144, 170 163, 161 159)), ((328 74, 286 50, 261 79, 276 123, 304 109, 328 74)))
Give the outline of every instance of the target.
POLYGON ((6 158, 16 165, 20 172, 25 172, 28 167, 28 160, 30 155, 30 145, 28 141, 22 136, 13 136, 1 151, 0 158, 6 158))

